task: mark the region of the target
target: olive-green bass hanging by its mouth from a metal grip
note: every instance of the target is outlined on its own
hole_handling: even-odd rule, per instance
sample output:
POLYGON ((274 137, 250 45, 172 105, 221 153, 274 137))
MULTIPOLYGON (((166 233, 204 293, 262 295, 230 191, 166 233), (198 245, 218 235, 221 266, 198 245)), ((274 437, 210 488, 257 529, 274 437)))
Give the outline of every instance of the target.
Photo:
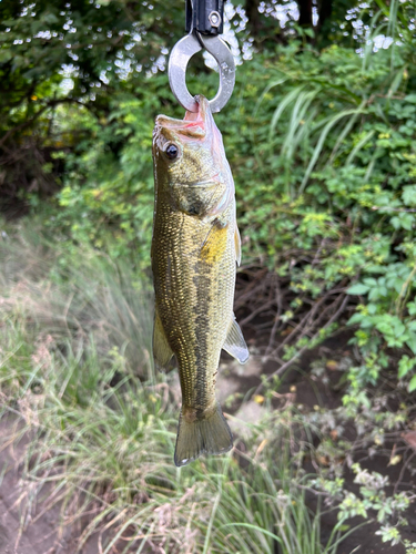
POLYGON ((241 239, 235 188, 209 101, 183 120, 158 115, 153 132, 153 358, 173 356, 182 407, 174 463, 223 454, 233 437, 215 397, 221 350, 239 362, 248 349, 233 312, 241 239))

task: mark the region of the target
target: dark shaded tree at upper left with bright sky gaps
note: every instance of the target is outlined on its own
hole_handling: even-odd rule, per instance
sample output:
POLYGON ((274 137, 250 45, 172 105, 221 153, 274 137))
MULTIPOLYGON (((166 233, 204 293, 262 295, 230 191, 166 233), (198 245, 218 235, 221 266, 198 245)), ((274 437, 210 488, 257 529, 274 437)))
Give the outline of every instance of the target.
POLYGON ((45 140, 54 109, 82 104, 98 116, 111 94, 154 71, 183 34, 182 2, 0 2, 0 204, 22 189, 50 193, 45 140), (129 80, 128 76, 134 78, 129 80), (70 81, 68 81, 70 78, 70 81), (65 81, 67 79, 67 81, 65 81), (67 83, 67 86, 64 86, 67 83))

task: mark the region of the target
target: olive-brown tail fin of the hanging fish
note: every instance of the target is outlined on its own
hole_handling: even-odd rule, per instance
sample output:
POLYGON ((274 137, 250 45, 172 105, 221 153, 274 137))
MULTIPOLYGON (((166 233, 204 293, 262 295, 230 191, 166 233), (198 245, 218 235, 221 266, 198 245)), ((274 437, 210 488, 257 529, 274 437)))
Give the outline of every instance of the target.
POLYGON ((205 419, 179 420, 174 461, 179 468, 196 460, 201 454, 224 454, 233 448, 233 435, 223 416, 220 402, 205 419))

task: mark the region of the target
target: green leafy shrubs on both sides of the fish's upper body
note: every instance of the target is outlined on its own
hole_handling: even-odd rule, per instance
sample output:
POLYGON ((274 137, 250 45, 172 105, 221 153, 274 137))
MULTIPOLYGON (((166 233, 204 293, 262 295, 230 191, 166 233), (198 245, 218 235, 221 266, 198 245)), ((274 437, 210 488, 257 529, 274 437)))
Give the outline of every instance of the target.
MULTIPOLYGON (((323 340, 349 308, 362 362, 348 380, 361 401, 388 366, 388 349, 402 349, 399 378, 416 387, 412 6, 379 0, 363 8, 368 34, 353 47, 317 53, 294 39, 255 55, 239 66, 235 94, 216 115, 236 183, 243 263, 278 276, 290 297, 278 329, 301 329, 280 359, 288 363, 323 340), (376 51, 381 33, 400 41, 376 51), (300 326, 311 319, 307 310, 308 330, 300 326)), ((215 79, 190 71, 189 88, 210 96, 215 79)), ((153 121, 183 112, 161 74, 126 79, 105 99, 101 111, 91 99, 55 107, 51 158, 62 165, 63 186, 44 220, 68 248, 88 243, 112 256, 131 254, 148 270, 153 121)), ((41 207, 39 195, 30 199, 41 207)))

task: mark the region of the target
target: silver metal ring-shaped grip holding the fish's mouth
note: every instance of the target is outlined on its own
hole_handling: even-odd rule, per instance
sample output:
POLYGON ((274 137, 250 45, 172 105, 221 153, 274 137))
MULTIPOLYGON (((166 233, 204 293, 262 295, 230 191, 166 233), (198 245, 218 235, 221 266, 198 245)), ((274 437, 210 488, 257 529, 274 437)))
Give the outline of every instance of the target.
POLYGON ((189 112, 197 112, 197 103, 186 89, 186 66, 191 58, 202 48, 210 52, 219 64, 220 88, 215 96, 210 100, 211 111, 216 113, 229 102, 235 83, 233 54, 219 37, 206 37, 194 31, 176 42, 169 59, 169 82, 177 102, 189 112))

